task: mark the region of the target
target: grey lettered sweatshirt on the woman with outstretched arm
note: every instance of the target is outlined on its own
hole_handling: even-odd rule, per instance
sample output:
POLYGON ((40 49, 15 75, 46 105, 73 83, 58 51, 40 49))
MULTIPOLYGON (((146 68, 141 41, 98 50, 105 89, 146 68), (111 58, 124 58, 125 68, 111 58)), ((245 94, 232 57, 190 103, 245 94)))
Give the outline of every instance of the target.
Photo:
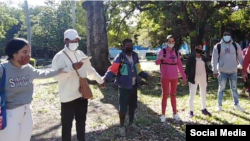
MULTIPOLYGON (((59 74, 59 71, 37 70, 30 64, 16 67, 10 61, 3 63, 5 66, 5 95, 7 109, 30 104, 32 101, 34 79, 46 79, 59 74)), ((2 80, 3 68, 0 66, 0 77, 2 80)))

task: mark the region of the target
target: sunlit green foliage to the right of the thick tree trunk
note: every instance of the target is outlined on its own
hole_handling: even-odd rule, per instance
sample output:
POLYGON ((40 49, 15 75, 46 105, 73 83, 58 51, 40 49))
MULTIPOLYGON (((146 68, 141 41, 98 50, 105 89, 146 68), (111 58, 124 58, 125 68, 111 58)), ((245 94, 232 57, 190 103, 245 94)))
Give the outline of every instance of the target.
MULTIPOLYGON (((139 35, 138 42, 143 46, 159 46, 165 42, 168 34, 175 35, 178 38, 178 42, 181 42, 182 39, 188 39, 185 37, 192 38, 192 41, 196 42, 209 40, 211 37, 219 37, 221 30, 224 29, 222 28, 223 26, 233 30, 249 32, 249 16, 247 16, 249 13, 246 12, 247 9, 243 8, 245 1, 238 1, 237 4, 243 4, 238 9, 228 7, 230 2, 232 1, 157 0, 142 2, 139 0, 114 0, 111 4, 109 3, 111 5, 109 8, 111 8, 108 11, 114 13, 112 14, 111 12, 109 16, 112 17, 110 23, 113 23, 109 25, 115 28, 112 29, 112 32, 109 32, 109 35, 120 36, 120 34, 114 33, 124 28, 119 28, 117 25, 125 24, 124 27, 126 27, 128 24, 126 22, 121 23, 121 19, 123 18, 119 17, 119 15, 121 13, 133 14, 130 11, 135 11, 135 9, 139 9, 141 13, 138 16, 139 22, 134 33, 139 35), (119 8, 115 9, 113 8, 114 6, 119 8), (247 17, 242 15, 246 15, 247 17), (114 16, 116 18, 113 18, 114 16)), ((249 4, 250 1, 248 0, 247 3, 249 4)), ((230 4, 233 5, 233 3, 230 4)), ((127 19, 132 14, 128 15, 127 19)), ((114 41, 109 40, 109 42, 114 41)))

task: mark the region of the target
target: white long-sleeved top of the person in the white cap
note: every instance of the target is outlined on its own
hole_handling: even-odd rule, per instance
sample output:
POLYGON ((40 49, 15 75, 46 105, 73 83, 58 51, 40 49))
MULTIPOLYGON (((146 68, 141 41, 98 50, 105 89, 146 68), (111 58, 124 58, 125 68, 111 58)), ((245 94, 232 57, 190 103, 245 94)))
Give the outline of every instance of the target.
MULTIPOLYGON (((70 70, 67 71, 68 73, 61 73, 55 77, 59 85, 60 101, 62 103, 65 103, 82 97, 82 94, 79 92, 79 76, 73 69, 71 61, 63 53, 63 51, 68 54, 73 63, 80 62, 82 58, 85 58, 87 56, 80 50, 71 51, 65 46, 64 49, 59 51, 52 60, 52 69, 58 70, 60 68, 65 68, 66 70, 70 70)), ((89 59, 86 59, 82 67, 77 71, 82 78, 96 80, 99 84, 102 84, 104 82, 102 80, 102 77, 91 66, 89 59)))

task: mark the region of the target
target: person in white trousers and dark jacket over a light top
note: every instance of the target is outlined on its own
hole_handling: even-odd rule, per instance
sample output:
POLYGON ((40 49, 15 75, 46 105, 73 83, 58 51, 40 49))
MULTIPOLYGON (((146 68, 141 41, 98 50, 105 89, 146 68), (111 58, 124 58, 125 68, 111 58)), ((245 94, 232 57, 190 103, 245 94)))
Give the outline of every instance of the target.
POLYGON ((196 95, 197 86, 199 85, 201 96, 201 112, 204 115, 212 116, 206 108, 206 94, 207 94, 207 81, 208 73, 212 74, 212 70, 208 67, 206 57, 202 55, 203 44, 197 44, 195 47, 196 53, 189 56, 186 63, 185 73, 189 82, 189 108, 190 117, 194 116, 193 103, 196 95))

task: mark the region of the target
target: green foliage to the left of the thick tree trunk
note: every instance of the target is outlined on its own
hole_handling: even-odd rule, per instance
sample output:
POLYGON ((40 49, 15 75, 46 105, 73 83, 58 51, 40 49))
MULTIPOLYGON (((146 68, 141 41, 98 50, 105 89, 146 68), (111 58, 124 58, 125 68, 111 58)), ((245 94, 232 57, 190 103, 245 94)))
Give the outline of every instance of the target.
MULTIPOLYGON (((68 28, 78 30, 82 37, 79 48, 86 48, 86 15, 81 7, 82 1, 76 1, 76 25, 72 25, 71 0, 62 0, 62 3, 46 0, 45 6, 29 8, 32 56, 52 58, 64 47, 63 33, 68 28)), ((24 6, 11 7, 0 2, 0 11, 0 46, 14 37, 27 38, 24 6)))

